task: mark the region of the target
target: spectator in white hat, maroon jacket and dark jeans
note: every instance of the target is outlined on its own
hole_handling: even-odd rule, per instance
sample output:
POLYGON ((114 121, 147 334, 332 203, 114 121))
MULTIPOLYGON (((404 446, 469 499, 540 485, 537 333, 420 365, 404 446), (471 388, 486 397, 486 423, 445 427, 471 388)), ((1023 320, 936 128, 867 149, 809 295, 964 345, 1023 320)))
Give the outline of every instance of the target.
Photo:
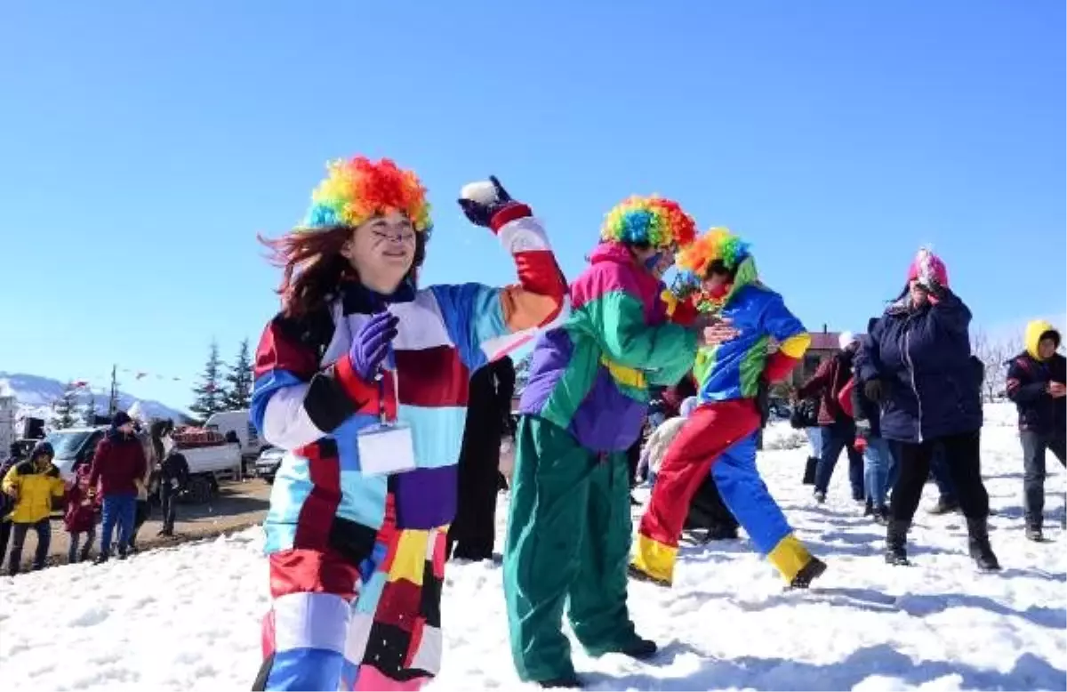
POLYGON ((815 500, 826 502, 826 491, 838 466, 841 451, 848 453, 848 481, 853 500, 864 501, 863 455, 856 449, 856 422, 841 408, 838 395, 853 377, 853 358, 858 347, 851 332, 842 332, 841 350, 818 365, 818 369, 800 389, 797 399, 818 396, 819 455, 815 472, 815 500))

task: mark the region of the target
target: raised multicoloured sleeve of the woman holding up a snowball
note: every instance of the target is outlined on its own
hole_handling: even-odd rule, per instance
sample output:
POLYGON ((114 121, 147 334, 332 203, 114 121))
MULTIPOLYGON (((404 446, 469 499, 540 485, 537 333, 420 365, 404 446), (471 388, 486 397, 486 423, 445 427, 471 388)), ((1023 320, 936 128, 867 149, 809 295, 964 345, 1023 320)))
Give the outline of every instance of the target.
POLYGON ((493 217, 492 229, 511 253, 519 282, 503 288, 432 288, 460 357, 472 371, 562 324, 569 312, 563 272, 529 207, 505 207, 493 217))

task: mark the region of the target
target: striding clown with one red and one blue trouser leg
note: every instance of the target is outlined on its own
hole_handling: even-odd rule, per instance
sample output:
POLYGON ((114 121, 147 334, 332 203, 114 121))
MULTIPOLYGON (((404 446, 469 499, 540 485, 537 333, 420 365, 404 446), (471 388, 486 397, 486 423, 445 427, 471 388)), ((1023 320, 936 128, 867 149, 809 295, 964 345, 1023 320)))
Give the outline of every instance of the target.
POLYGON ((761 426, 761 388, 783 379, 800 361, 811 337, 785 308, 782 297, 763 285, 749 247, 715 229, 679 255, 679 267, 700 286, 714 270, 729 274, 717 294, 698 290, 685 300, 737 330, 715 346, 703 346, 694 374, 700 406, 674 438, 656 477, 652 501, 641 519, 632 575, 669 585, 678 541, 694 493, 708 472, 722 500, 752 542, 795 586, 807 585, 825 565, 811 556, 767 491, 755 468, 761 426), (770 340, 778 350, 768 355, 770 340))

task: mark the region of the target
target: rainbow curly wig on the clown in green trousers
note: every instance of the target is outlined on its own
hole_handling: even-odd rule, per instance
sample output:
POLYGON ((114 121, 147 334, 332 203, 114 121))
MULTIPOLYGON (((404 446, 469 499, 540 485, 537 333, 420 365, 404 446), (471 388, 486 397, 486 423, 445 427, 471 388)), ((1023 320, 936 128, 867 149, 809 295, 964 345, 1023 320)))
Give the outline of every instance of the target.
POLYGON ((660 196, 631 196, 608 211, 602 240, 676 249, 692 242, 697 224, 678 202, 660 196))

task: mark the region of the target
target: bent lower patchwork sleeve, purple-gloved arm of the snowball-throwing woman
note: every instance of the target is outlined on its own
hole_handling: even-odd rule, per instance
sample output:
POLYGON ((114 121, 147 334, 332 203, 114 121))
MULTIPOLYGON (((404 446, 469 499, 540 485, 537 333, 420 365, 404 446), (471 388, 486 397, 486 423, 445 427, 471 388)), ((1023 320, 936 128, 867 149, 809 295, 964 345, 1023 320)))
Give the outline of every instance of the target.
POLYGON ((329 435, 373 396, 348 356, 320 369, 312 347, 294 337, 296 324, 275 317, 256 349, 252 422, 270 444, 298 450, 329 435))

